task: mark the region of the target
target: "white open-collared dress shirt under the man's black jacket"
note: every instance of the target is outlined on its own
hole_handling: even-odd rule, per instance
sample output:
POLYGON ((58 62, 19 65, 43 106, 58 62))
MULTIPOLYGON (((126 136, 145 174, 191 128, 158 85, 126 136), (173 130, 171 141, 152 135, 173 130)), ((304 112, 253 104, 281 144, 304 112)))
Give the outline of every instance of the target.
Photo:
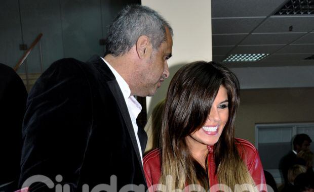
POLYGON ((117 83, 119 84, 119 87, 122 91, 124 100, 126 101, 128 111, 129 111, 129 114, 131 117, 133 129, 134 129, 134 133, 135 133, 135 137, 136 137, 136 141, 137 141, 138 150, 140 152, 141 161, 143 164, 141 143, 140 143, 140 140, 139 140, 138 135, 137 135, 138 126, 136 124, 136 118, 137 118, 138 114, 141 112, 142 106, 141 106, 141 104, 138 103, 138 101, 134 98, 134 96, 131 95, 131 90, 130 90, 128 83, 121 77, 121 75, 115 69, 113 69, 113 67, 111 67, 111 65, 106 60, 104 60, 102 57, 101 57, 101 59, 105 62, 105 64, 109 67, 109 69, 113 73, 113 75, 114 75, 114 77, 115 77, 115 79, 116 79, 117 83))

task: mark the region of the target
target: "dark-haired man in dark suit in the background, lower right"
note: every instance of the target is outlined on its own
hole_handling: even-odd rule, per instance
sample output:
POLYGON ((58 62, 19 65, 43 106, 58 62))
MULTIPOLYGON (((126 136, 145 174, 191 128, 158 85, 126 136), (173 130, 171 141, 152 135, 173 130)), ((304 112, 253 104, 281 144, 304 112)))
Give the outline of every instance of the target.
POLYGON ((308 150, 311 138, 307 134, 297 134, 293 139, 293 150, 281 159, 279 168, 282 171, 285 183, 288 183, 288 170, 297 163, 297 154, 301 150, 308 150))

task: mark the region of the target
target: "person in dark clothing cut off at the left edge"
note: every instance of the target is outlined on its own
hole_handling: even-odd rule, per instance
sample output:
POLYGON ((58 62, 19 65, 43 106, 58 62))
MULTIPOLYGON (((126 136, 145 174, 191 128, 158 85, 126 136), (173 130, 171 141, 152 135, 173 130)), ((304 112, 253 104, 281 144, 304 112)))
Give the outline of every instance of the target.
POLYGON ((22 79, 11 67, 0 64, 0 191, 17 189, 26 99, 22 79))

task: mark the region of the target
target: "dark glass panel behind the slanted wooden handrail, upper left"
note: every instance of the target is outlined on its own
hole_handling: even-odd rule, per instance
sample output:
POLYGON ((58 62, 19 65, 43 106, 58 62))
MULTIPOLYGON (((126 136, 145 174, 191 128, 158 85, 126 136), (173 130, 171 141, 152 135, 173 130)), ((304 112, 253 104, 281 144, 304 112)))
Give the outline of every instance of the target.
POLYGON ((42 46, 43 70, 51 63, 62 59, 62 24, 58 1, 20 0, 24 43, 29 48, 38 34, 43 33, 41 41, 27 57, 28 73, 41 73, 42 46))

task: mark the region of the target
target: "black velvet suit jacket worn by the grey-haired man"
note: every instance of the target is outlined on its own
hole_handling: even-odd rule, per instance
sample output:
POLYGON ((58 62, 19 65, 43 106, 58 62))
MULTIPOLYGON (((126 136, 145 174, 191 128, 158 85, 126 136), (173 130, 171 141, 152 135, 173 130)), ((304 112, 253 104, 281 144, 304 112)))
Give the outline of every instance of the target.
MULTIPOLYGON (((127 184, 143 184, 146 190, 123 94, 99 56, 86 63, 62 59, 42 74, 29 93, 22 135, 20 187, 32 175, 55 182, 59 174, 71 191, 81 191, 83 184, 91 190, 114 185, 114 175, 117 191, 127 184)), ((141 143, 146 143, 144 135, 141 143)), ((32 184, 31 191, 47 190, 45 186, 32 184)))

